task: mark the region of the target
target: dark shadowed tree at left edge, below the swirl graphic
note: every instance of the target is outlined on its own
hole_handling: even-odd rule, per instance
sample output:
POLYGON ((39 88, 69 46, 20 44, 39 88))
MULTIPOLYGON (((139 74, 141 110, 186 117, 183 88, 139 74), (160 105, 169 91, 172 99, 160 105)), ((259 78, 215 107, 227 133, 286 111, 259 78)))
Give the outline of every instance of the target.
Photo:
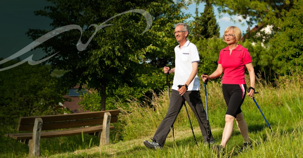
MULTIPOLYGON (((11 60, 0 68, 17 62, 11 60)), ((24 64, 0 71, 0 124, 14 125, 23 116, 62 114, 59 103, 64 102, 66 92, 57 88, 57 81, 41 65, 24 64)))

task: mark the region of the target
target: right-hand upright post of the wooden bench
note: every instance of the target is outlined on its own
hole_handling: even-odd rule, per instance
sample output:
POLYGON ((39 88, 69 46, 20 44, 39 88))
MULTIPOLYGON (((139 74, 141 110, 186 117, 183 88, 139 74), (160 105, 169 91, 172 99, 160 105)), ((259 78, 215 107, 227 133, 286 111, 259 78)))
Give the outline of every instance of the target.
POLYGON ((111 114, 109 112, 105 112, 104 119, 103 119, 102 133, 101 133, 101 137, 100 137, 100 145, 109 143, 110 123, 111 123, 111 114))

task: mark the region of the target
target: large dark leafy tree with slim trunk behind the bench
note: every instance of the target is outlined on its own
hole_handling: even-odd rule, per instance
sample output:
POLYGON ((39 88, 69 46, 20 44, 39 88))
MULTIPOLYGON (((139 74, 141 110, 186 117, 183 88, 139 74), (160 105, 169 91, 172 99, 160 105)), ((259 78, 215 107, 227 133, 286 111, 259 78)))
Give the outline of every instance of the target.
MULTIPOLYGON (((52 69, 68 71, 61 78, 62 87, 69 89, 80 84, 81 89, 87 83, 88 89, 98 90, 101 110, 105 109, 107 93, 112 94, 121 85, 138 85, 138 77, 146 72, 146 65, 163 66, 172 61, 171 46, 174 42, 170 35, 174 24, 184 18, 179 14, 180 8, 185 6, 183 0, 176 4, 172 0, 148 3, 144 0, 48 1, 53 6, 36 11, 35 15, 51 18, 54 29, 74 24, 85 28, 85 31, 66 31, 39 47, 48 56, 59 52, 49 62, 52 69), (144 34, 141 33, 149 21, 142 14, 130 12, 112 18, 133 9, 144 9, 152 16, 153 26, 144 34), (108 19, 110 21, 103 25, 106 27, 95 34, 97 26, 88 27, 90 24, 100 26, 108 19), (79 37, 81 41, 91 40, 86 49, 81 51, 77 49, 79 37)), ((27 34, 35 40, 48 32, 30 29, 27 34)))

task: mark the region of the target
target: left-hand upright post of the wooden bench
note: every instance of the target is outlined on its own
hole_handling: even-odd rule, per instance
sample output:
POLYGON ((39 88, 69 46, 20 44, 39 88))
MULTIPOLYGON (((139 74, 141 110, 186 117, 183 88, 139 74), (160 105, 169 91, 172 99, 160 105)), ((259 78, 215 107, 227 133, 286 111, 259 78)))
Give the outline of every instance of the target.
POLYGON ((42 129, 42 118, 35 118, 35 124, 33 128, 33 138, 29 140, 29 155, 28 157, 39 157, 40 150, 40 135, 42 129))

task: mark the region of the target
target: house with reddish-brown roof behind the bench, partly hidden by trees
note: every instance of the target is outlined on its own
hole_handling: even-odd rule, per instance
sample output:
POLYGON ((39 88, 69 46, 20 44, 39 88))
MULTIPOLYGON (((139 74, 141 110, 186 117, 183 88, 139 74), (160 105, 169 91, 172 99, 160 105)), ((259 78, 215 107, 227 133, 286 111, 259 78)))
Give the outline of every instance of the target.
POLYGON ((72 111, 72 113, 79 113, 79 112, 89 112, 84 111, 80 105, 78 105, 78 102, 80 102, 82 99, 79 98, 81 93, 85 93, 86 90, 81 90, 81 92, 78 92, 79 85, 72 87, 69 89, 69 93, 64 95, 64 98, 70 98, 71 101, 65 101, 62 106, 65 108, 68 108, 72 111))

